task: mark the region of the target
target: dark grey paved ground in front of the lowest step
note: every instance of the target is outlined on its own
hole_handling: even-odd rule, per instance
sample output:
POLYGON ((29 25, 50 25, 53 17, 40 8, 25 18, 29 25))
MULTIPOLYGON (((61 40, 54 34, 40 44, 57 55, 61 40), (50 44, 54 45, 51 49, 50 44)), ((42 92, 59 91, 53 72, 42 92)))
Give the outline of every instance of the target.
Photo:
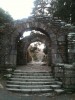
POLYGON ((0 89, 0 100, 75 100, 75 94, 50 96, 21 96, 0 89))

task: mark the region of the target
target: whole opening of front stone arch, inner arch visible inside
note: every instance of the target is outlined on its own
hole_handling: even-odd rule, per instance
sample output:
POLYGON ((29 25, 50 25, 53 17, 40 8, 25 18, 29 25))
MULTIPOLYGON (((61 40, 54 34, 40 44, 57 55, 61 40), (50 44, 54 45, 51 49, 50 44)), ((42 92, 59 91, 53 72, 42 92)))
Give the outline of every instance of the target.
POLYGON ((17 65, 26 65, 29 61, 51 62, 48 57, 50 45, 50 40, 44 33, 37 30, 25 31, 17 42, 17 65), (35 57, 32 56, 30 47, 37 48, 33 54, 35 57))

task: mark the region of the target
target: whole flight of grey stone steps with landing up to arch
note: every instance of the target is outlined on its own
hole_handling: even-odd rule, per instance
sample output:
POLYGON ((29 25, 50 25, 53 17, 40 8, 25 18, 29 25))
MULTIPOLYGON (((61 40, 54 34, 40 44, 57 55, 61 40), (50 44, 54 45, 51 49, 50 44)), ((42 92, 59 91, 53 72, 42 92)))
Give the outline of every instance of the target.
POLYGON ((62 82, 56 80, 43 62, 18 67, 7 81, 7 90, 21 95, 49 95, 64 92, 62 82))

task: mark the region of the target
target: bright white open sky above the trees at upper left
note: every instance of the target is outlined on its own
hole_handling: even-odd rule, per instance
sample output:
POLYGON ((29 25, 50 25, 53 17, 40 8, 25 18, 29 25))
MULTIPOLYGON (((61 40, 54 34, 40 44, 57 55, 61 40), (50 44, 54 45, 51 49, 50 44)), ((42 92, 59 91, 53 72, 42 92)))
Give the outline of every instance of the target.
POLYGON ((7 11, 14 20, 27 18, 34 6, 34 0, 0 0, 0 8, 7 11))

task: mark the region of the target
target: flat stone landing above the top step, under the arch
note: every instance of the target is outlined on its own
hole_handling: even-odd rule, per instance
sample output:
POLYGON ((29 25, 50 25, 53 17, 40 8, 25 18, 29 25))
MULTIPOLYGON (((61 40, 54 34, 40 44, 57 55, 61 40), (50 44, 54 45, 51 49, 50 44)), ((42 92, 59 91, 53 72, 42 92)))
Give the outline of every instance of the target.
POLYGON ((16 70, 23 70, 25 72, 50 72, 50 66, 47 66, 44 62, 28 63, 24 66, 19 66, 16 70))

